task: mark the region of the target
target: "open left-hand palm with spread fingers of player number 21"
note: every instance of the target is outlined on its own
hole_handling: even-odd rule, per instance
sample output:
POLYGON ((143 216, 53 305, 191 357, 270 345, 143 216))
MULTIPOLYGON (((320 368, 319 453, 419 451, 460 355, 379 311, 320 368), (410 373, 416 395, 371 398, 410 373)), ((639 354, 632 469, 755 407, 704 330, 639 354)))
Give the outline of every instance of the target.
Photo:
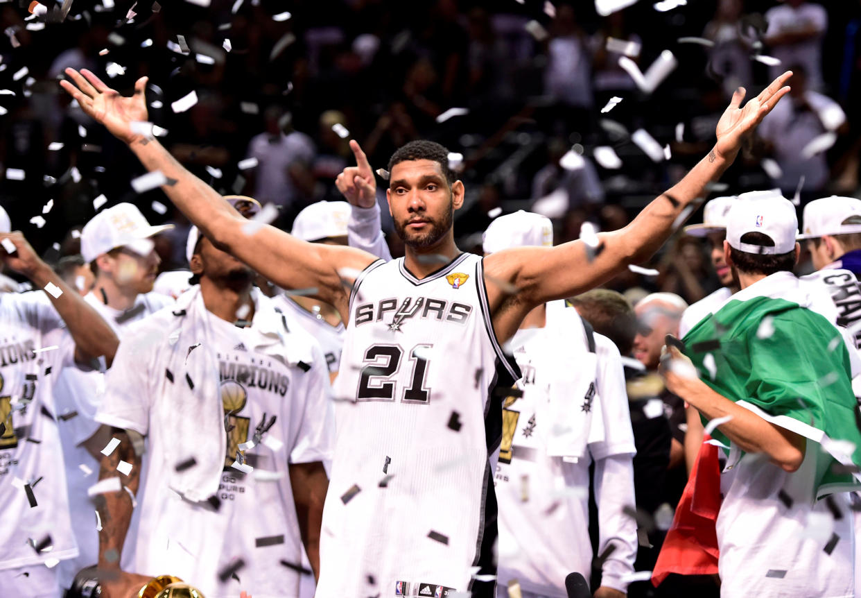
POLYGON ((102 123, 111 134, 129 145, 144 138, 144 135, 133 132, 132 123, 147 120, 144 90, 149 78, 139 78, 134 84, 134 94, 124 97, 86 69, 77 72, 68 68, 65 74, 71 82, 64 79, 59 82, 60 87, 77 100, 86 115, 102 123))

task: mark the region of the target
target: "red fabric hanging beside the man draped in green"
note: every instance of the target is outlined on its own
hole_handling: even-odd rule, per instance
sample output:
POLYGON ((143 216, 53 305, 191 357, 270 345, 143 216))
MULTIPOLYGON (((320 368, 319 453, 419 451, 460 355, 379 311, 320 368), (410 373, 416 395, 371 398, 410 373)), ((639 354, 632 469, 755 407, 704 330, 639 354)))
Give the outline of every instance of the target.
MULTIPOLYGON (((709 440, 706 434, 703 440, 709 440)), ((678 501, 672 526, 666 533, 658 562, 652 571, 657 588, 671 573, 711 575, 717 573, 715 522, 721 510, 721 469, 718 447, 703 442, 697 462, 678 501)))

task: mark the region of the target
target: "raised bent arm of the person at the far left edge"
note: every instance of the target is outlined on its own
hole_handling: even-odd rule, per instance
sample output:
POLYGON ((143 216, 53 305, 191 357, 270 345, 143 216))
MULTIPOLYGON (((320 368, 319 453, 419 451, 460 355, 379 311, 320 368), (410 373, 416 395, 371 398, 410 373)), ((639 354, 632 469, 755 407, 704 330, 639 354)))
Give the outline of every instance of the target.
POLYGON ((36 255, 33 247, 24 239, 24 235, 17 231, 3 233, 0 234, 0 239, 8 239, 15 246, 13 253, 0 248, 0 256, 2 256, 0 264, 9 265, 12 270, 28 277, 37 289, 45 289, 46 286, 53 284, 56 290, 60 291, 57 295, 56 290, 53 293, 46 290, 46 295, 53 303, 59 317, 65 321, 65 326, 75 341, 77 361, 84 363, 104 355, 110 364, 120 341, 108 323, 102 320, 102 316, 84 301, 84 297, 77 290, 71 289, 36 255))

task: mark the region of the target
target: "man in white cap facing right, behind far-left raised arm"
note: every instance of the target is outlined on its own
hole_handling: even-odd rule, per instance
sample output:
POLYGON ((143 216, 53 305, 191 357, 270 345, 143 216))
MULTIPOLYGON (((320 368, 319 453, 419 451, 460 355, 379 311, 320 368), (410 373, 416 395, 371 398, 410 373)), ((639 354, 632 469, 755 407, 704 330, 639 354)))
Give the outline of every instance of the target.
MULTIPOLYGON (((124 202, 103 209, 81 231, 82 258, 95 274, 84 301, 119 337, 133 322, 172 303, 170 297, 151 292, 160 262, 151 238, 171 227, 151 226, 139 209, 124 202)), ((96 509, 87 489, 96 483, 92 472, 99 469, 99 452, 107 444, 109 431, 97 433, 100 426, 94 419, 104 389, 103 368, 65 368, 58 373, 58 426, 78 547, 77 558, 59 565, 60 583, 68 589, 79 570, 98 560, 96 509)))

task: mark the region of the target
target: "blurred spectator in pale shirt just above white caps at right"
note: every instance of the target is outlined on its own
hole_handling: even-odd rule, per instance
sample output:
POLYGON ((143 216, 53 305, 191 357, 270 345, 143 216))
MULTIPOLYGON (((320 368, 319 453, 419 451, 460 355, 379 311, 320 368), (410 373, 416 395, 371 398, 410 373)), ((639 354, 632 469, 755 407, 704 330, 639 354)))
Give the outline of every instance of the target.
POLYGON ((809 196, 825 190, 830 175, 827 147, 811 156, 808 144, 828 132, 842 134, 848 125, 839 103, 809 88, 806 67, 797 64, 789 68, 794 72, 790 79, 792 89, 765 116, 759 136, 769 142, 767 149, 780 166, 780 176, 774 178, 774 184, 784 196, 792 197, 803 177, 802 192, 809 196))

